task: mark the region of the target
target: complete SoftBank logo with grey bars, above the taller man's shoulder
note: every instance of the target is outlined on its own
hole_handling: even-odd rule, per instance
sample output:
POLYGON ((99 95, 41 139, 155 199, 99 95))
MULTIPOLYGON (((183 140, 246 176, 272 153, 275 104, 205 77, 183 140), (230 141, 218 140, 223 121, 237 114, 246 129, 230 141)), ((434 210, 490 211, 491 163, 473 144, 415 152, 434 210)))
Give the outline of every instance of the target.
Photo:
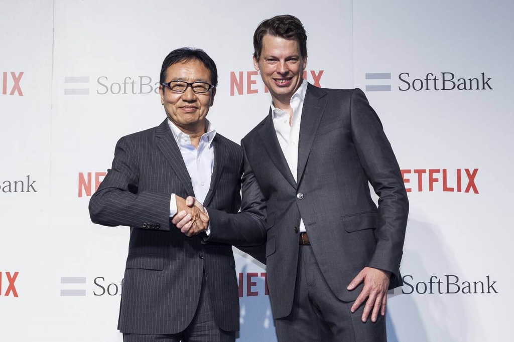
POLYGON ((481 72, 475 77, 456 75, 453 72, 428 72, 422 76, 409 72, 398 74, 398 81, 393 86, 390 72, 366 72, 366 91, 430 91, 430 90, 492 90, 490 77, 481 72), (384 81, 385 80, 385 81, 384 81))

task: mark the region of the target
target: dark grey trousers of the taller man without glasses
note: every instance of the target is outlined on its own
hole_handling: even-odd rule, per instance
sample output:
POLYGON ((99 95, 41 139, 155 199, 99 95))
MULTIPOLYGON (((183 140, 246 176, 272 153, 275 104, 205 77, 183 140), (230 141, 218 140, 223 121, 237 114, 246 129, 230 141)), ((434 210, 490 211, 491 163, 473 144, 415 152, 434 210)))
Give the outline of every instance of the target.
POLYGON ((311 246, 300 245, 292 310, 275 320, 279 342, 386 342, 384 317, 363 323, 364 305, 355 313, 352 305, 328 287, 311 246))

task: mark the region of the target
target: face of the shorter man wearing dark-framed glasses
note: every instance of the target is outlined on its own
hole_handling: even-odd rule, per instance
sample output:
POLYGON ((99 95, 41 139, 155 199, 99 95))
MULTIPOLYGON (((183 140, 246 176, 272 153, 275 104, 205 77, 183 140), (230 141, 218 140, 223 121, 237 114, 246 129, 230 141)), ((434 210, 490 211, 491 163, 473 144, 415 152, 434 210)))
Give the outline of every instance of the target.
MULTIPOLYGON (((211 83, 211 73, 205 65, 196 60, 178 62, 166 71, 166 80, 211 83)), ((204 132, 205 117, 214 102, 216 88, 206 93, 195 93, 188 87, 183 93, 175 93, 166 86, 159 87, 161 104, 168 118, 183 132, 204 132)))

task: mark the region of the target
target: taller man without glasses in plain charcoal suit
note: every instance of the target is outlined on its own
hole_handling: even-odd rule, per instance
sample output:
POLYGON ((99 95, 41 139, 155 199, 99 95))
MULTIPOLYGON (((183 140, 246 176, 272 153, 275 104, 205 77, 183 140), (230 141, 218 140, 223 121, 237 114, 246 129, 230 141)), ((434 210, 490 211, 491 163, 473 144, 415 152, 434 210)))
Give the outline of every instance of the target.
POLYGON ((387 291, 402 284, 405 186, 364 93, 302 80, 306 43, 291 15, 255 30, 253 63, 271 108, 242 140, 245 172, 267 201, 265 257, 277 335, 280 342, 385 341, 387 291))

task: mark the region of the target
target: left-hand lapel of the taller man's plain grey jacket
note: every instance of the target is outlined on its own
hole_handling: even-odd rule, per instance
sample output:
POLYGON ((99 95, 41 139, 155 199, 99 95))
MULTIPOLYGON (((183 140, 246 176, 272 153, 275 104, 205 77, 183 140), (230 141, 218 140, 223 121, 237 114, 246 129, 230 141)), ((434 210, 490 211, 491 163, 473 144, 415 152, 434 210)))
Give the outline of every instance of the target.
POLYGON ((271 116, 271 108, 269 109, 268 117, 263 121, 261 129, 259 129, 259 135, 261 136, 263 146, 268 153, 269 159, 271 159, 273 164, 279 169, 282 176, 296 188, 295 178, 291 174, 291 170, 287 165, 286 158, 282 153, 282 148, 277 139, 277 133, 275 132, 271 116))

